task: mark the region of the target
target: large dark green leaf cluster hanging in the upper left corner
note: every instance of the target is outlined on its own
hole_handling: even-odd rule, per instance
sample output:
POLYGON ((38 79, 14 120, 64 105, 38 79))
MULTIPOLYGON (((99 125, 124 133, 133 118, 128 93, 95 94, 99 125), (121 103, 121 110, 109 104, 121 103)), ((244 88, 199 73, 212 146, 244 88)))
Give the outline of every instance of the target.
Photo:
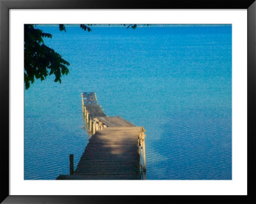
MULTIPOLYGON (((60 26, 65 30, 65 26, 60 26)), ((55 75, 55 82, 61 83, 61 75, 67 75, 70 64, 60 54, 44 44, 43 38, 52 38, 50 33, 24 25, 24 84, 26 90, 36 79, 44 81, 47 75, 55 75)))

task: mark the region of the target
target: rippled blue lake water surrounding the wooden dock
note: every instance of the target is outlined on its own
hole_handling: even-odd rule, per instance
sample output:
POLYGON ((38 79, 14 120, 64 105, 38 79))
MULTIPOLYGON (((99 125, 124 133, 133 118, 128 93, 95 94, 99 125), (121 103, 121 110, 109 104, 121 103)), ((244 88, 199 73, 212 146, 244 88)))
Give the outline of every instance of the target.
POLYGON ((24 179, 68 174, 70 153, 76 168, 89 139, 84 91, 146 129, 148 180, 232 179, 231 25, 36 27, 70 74, 24 93, 24 179))

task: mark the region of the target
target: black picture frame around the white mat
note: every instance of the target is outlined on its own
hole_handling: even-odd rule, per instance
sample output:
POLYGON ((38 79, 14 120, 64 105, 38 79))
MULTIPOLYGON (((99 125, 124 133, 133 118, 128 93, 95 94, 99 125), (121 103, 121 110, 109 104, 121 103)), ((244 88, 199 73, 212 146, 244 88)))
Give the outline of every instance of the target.
POLYGON ((0 90, 1 90, 1 198, 3 203, 134 203, 150 200, 173 203, 256 203, 255 200, 255 104, 256 104, 256 2, 255 0, 180 0, 180 1, 116 1, 116 0, 0 0, 0 90), (10 9, 247 9, 248 12, 248 195, 247 196, 10 196, 9 195, 9 10, 10 9))

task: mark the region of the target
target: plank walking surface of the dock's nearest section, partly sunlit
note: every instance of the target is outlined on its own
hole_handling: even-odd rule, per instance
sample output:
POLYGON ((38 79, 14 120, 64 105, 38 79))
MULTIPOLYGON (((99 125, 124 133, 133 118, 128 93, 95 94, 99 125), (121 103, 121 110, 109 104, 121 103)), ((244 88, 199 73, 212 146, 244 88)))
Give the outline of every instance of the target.
POLYGON ((141 130, 141 127, 108 127, 97 131, 89 139, 74 175, 133 174, 140 178, 141 130))

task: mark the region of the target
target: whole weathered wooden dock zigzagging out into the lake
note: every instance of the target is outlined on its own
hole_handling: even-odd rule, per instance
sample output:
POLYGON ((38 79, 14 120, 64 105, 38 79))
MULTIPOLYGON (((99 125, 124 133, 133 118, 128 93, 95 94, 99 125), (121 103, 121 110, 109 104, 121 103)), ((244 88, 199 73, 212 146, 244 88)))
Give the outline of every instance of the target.
MULTIPOLYGON (((74 171, 58 180, 146 179, 145 129, 120 116, 106 116, 94 92, 82 93, 83 114, 91 133, 74 171)), ((73 158, 70 157, 70 158, 73 158)), ((72 159, 71 159, 72 160, 72 159)))

